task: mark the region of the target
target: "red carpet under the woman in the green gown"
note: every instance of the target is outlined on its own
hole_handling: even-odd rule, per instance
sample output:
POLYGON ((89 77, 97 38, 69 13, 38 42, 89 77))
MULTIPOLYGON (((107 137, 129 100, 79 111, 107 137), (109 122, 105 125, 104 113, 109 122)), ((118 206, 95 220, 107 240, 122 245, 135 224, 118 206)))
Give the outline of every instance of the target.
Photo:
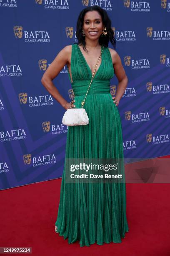
POLYGON ((32 247, 34 256, 170 256, 170 184, 126 184, 129 233, 122 243, 82 248, 54 231, 60 184, 61 178, 0 191, 0 247, 32 247))

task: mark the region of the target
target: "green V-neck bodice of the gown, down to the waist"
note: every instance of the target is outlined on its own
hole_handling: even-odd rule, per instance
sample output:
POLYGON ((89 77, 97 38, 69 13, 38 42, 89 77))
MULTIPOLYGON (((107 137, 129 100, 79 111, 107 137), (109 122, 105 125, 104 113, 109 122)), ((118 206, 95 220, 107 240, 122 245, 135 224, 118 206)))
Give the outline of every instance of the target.
MULTIPOLYGON (((97 60, 96 60, 97 62, 97 60)), ((87 92, 87 88, 92 79, 92 72, 82 54, 79 46, 77 44, 72 44, 72 54, 71 54, 71 74, 72 81, 69 75, 70 82, 72 84, 72 89, 75 95, 84 95, 87 92)), ((101 63, 95 72, 93 81, 90 85, 88 94, 99 92, 108 93, 110 91, 110 79, 114 76, 114 68, 112 64, 112 57, 108 47, 104 47, 101 63)))

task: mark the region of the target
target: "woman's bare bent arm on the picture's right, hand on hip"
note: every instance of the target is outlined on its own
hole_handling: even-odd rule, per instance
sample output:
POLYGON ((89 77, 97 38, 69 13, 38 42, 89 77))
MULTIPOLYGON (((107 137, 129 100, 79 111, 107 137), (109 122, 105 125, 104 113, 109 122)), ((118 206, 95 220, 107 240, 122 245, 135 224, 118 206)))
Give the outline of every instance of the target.
POLYGON ((109 48, 109 50, 112 56, 112 63, 113 63, 115 75, 119 81, 117 85, 115 97, 112 97, 113 101, 115 102, 115 105, 118 106, 122 98, 122 95, 124 94, 125 89, 127 87, 128 77, 126 76, 125 69, 122 66, 122 62, 119 54, 117 54, 117 51, 111 48, 109 48))

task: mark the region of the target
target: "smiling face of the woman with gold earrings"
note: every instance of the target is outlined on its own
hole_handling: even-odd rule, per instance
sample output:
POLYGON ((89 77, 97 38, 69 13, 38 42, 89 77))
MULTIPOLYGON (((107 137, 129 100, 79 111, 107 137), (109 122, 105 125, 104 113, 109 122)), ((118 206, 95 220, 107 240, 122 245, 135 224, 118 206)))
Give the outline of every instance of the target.
POLYGON ((88 11, 84 16, 83 29, 85 36, 90 40, 96 40, 100 37, 104 29, 102 17, 97 11, 88 11))

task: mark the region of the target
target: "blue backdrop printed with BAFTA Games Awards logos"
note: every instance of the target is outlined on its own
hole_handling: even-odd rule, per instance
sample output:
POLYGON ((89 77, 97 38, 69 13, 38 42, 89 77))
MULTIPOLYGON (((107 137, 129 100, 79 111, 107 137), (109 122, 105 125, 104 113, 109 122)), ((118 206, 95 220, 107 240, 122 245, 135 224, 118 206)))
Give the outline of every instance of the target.
MULTIPOLYGON (((110 16, 129 79, 118 106, 124 157, 170 154, 170 0, 0 0, 0 189, 62 176, 65 109, 40 80, 77 42, 77 17, 90 5, 110 16)), ((53 82, 70 102, 66 66, 53 82)), ((117 84, 114 76, 112 94, 117 84)))

